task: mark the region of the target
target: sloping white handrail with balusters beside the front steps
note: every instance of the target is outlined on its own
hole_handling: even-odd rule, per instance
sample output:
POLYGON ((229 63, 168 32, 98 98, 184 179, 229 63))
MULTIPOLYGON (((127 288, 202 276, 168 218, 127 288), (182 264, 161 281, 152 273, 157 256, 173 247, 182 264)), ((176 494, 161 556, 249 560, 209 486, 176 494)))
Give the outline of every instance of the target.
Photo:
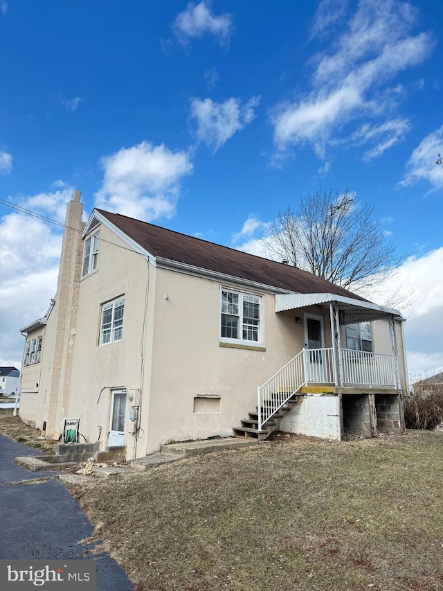
POLYGON ((305 384, 303 352, 300 351, 272 378, 257 387, 259 429, 305 384))

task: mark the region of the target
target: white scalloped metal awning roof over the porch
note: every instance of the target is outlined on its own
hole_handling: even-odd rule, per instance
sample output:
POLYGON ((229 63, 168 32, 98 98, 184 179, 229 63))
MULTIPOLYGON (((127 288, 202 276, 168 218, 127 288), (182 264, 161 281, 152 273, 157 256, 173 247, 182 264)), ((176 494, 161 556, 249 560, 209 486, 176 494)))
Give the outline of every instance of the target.
POLYGON ((372 301, 363 301, 352 297, 339 296, 337 294, 277 294, 275 295, 275 312, 284 310, 296 310, 307 306, 316 306, 326 303, 336 303, 341 311, 343 324, 354 324, 367 320, 379 320, 389 316, 401 318, 401 312, 395 308, 379 306, 372 301))

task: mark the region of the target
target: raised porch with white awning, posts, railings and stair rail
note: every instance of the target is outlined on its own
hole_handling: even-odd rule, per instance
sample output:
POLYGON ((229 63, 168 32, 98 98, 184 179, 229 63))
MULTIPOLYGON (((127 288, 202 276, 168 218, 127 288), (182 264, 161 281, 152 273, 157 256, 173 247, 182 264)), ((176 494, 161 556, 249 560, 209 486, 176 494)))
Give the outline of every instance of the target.
MULTIPOLYGON (((258 428, 287 405, 295 394, 329 392, 336 395, 395 394, 401 391, 394 308, 336 294, 282 294, 275 296, 275 312, 292 311, 305 324, 305 346, 284 367, 257 388, 258 428), (322 315, 309 311, 323 310, 322 315), (308 310, 308 311, 306 311, 308 310), (325 318, 330 344, 325 347, 325 318), (390 352, 364 351, 346 346, 345 327, 385 320, 390 352)), ((352 338, 348 339, 352 342, 352 338)), ((372 345, 372 344, 371 344, 372 345)), ((368 348, 368 347, 366 347, 368 348)))

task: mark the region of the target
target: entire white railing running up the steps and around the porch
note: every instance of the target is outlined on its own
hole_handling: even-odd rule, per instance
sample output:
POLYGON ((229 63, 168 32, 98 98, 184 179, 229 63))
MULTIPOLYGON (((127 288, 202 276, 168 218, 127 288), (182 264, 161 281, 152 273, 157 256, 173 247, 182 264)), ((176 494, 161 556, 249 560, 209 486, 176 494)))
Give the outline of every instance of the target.
MULTIPOLYGON (((343 386, 397 387, 394 355, 341 349, 343 386)), ((302 349, 257 388, 258 428, 306 384, 338 385, 333 349, 302 349)))

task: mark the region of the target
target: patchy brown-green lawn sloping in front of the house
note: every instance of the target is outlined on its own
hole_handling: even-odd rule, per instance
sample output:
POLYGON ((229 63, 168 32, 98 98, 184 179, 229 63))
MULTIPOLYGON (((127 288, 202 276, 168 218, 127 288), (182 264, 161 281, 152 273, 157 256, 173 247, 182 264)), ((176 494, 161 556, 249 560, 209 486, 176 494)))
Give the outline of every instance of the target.
POLYGON ((136 591, 443 590, 443 432, 281 439, 70 490, 136 591))

